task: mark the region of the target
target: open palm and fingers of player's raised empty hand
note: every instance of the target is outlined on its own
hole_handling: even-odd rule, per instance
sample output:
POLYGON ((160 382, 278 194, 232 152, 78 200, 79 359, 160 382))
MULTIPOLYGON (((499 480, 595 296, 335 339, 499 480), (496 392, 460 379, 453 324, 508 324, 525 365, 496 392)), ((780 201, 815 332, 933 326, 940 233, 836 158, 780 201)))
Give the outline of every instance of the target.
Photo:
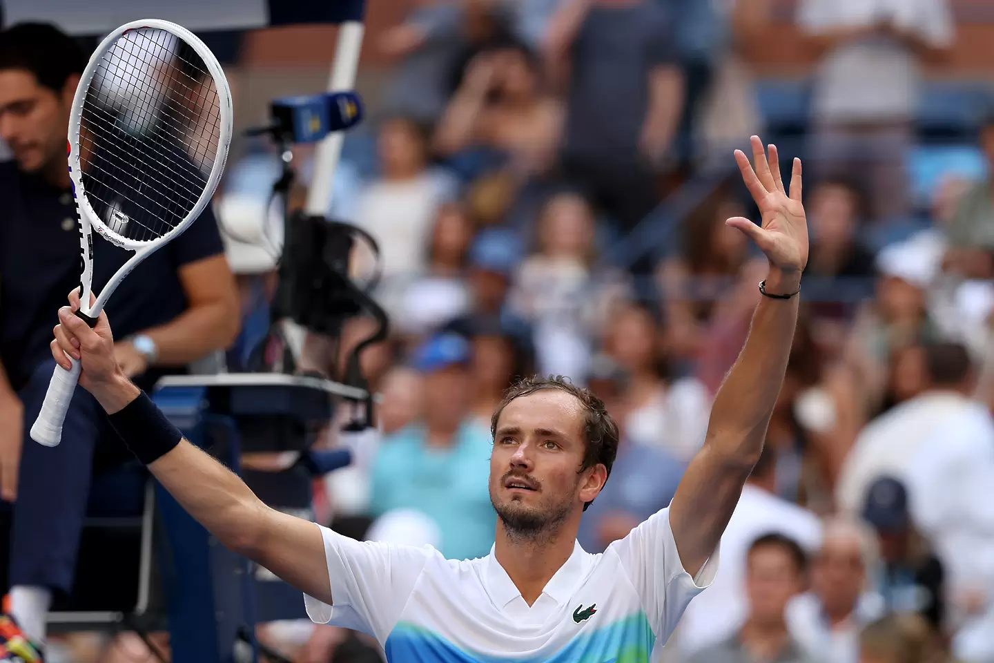
POLYGON ((776 146, 769 146, 767 161, 759 137, 752 136, 749 142, 755 170, 742 150, 736 150, 736 163, 762 215, 762 225, 756 226, 744 217, 735 217, 726 223, 755 242, 770 264, 784 272, 800 272, 808 257, 807 219, 801 204, 801 160, 794 159, 790 194, 787 195, 780 178, 776 146))

